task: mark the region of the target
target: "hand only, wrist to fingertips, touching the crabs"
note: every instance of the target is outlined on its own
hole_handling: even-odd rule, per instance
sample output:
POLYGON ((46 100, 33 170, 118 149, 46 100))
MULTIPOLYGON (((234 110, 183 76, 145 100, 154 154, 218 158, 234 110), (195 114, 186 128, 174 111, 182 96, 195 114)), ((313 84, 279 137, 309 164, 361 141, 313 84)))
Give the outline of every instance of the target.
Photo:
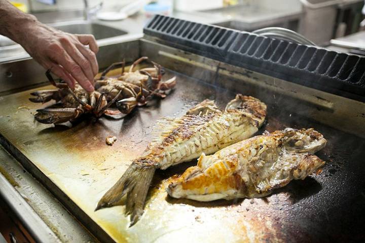
POLYGON ((94 76, 99 67, 95 56, 98 46, 93 35, 65 33, 38 21, 21 29, 16 41, 35 61, 51 69, 71 88, 78 82, 88 92, 94 91, 94 76))

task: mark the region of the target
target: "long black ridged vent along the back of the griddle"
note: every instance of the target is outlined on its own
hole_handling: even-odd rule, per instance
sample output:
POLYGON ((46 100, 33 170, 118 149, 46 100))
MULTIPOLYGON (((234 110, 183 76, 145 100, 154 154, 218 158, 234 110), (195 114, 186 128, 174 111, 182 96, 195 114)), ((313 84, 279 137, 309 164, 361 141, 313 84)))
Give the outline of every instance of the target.
POLYGON ((365 58, 156 15, 143 29, 169 45, 365 102, 365 58))

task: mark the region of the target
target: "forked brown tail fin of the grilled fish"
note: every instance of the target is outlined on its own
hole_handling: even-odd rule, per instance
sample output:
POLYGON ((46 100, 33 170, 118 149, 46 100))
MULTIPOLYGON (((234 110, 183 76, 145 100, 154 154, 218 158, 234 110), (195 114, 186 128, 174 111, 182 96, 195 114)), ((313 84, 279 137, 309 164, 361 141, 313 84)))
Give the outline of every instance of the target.
POLYGON ((156 166, 153 163, 133 162, 118 182, 100 199, 95 211, 116 206, 122 197, 127 195, 126 215, 131 215, 130 226, 134 225, 143 214, 144 202, 155 170, 156 166))

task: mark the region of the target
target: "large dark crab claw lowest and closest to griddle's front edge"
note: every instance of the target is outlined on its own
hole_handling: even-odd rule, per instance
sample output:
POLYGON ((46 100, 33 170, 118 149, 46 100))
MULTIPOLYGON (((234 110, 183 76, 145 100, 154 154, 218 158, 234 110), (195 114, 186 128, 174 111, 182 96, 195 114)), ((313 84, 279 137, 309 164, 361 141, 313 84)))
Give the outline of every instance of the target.
POLYGON ((59 124, 78 118, 81 111, 77 108, 41 109, 34 115, 35 120, 44 124, 59 124))

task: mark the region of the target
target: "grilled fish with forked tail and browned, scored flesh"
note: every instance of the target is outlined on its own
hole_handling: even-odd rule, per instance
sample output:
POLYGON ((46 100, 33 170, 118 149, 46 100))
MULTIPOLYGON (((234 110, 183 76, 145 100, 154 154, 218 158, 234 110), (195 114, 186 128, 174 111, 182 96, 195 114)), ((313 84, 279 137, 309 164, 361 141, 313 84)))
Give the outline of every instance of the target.
POLYGON ((144 201, 156 169, 165 170, 198 158, 201 153, 212 154, 251 137, 265 117, 264 103, 237 94, 224 111, 219 110, 213 101, 205 100, 181 118, 164 119, 160 124, 160 135, 105 193, 96 210, 115 206, 127 195, 126 214, 131 214, 133 225, 143 214, 144 201))

